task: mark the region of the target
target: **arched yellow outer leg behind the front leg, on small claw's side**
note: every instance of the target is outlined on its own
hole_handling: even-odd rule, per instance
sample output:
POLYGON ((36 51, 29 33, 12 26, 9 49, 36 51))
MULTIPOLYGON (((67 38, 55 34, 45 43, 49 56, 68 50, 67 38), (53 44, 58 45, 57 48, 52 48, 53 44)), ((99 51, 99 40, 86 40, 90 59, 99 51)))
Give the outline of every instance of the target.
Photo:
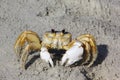
POLYGON ((25 46, 26 42, 27 43, 36 42, 38 43, 40 49, 41 45, 38 35, 33 31, 24 31, 19 35, 14 45, 15 52, 19 58, 22 52, 22 48, 25 46))

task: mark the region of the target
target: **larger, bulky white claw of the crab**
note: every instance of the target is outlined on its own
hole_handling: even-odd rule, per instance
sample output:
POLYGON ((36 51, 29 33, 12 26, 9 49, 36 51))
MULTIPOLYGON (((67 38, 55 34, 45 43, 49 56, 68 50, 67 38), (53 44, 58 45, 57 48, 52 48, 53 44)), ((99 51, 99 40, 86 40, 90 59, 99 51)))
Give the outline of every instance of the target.
POLYGON ((73 46, 62 57, 61 65, 70 66, 82 59, 83 47, 81 42, 74 42, 73 46))

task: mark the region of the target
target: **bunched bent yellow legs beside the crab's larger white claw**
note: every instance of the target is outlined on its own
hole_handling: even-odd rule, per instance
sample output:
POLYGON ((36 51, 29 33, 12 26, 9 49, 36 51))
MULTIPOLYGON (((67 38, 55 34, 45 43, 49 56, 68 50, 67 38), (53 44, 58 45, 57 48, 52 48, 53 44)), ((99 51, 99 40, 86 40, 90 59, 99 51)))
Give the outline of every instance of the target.
POLYGON ((90 67, 94 63, 98 55, 95 38, 90 34, 84 34, 84 35, 78 36, 77 40, 84 44, 85 62, 83 62, 83 64, 86 63, 88 60, 90 60, 90 57, 91 57, 91 61, 87 65, 88 67, 90 67))

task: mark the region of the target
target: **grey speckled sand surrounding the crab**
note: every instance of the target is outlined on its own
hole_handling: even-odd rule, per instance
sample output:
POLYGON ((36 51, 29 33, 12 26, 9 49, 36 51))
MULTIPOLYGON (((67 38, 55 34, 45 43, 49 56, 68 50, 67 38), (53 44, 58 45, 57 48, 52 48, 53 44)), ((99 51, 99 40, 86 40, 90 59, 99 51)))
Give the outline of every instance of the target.
POLYGON ((0 80, 120 80, 119 0, 0 0, 0 80), (51 29, 94 35, 98 58, 86 66, 51 68, 31 54, 21 70, 14 52, 18 35, 32 30, 40 37, 51 29))

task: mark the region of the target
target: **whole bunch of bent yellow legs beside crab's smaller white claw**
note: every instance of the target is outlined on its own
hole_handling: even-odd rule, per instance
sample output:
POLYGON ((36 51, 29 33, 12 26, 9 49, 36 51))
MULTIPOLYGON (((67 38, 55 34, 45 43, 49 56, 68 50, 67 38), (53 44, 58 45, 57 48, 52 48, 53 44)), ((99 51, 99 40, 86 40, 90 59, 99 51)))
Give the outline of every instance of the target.
POLYGON ((20 60, 22 61, 22 67, 25 68, 25 63, 29 52, 34 50, 40 50, 41 48, 41 41, 38 35, 33 31, 24 31, 20 34, 16 43, 14 45, 15 52, 20 60), (24 49, 25 47, 25 49, 24 49))

